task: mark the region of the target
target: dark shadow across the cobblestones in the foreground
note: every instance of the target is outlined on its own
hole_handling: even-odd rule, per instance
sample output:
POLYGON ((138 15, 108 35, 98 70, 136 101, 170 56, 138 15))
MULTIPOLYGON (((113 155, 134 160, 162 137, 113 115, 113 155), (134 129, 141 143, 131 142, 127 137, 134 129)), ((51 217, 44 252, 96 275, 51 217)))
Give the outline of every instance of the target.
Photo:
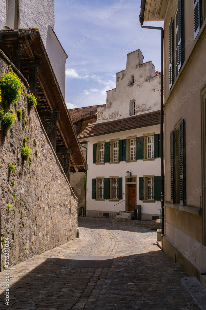
POLYGON ((180 285, 185 272, 159 250, 116 257, 111 268, 70 263, 64 260, 62 266, 61 259, 52 258, 23 277, 19 273, 20 280, 9 289, 9 307, 1 294, 0 309, 175 310, 192 302, 180 285))

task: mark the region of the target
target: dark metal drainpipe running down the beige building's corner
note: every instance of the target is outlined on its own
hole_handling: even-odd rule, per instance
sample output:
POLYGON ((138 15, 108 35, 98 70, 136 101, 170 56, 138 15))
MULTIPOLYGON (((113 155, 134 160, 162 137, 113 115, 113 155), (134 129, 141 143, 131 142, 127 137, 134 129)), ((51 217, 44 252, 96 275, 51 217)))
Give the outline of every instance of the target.
POLYGON ((164 122, 164 29, 162 27, 143 26, 144 18, 140 17, 141 28, 161 30, 161 97, 160 97, 160 148, 161 148, 161 208, 162 208, 162 233, 165 235, 165 184, 164 184, 164 152, 163 152, 163 122, 164 122))

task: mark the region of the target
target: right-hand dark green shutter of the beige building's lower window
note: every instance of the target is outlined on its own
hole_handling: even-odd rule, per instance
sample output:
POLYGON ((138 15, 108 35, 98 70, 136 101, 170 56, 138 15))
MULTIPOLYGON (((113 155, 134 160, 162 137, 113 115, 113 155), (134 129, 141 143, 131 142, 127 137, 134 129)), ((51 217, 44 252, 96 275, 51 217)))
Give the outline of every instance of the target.
POLYGON ((180 205, 186 201, 186 175, 185 175, 185 122, 179 123, 179 172, 180 172, 180 205))

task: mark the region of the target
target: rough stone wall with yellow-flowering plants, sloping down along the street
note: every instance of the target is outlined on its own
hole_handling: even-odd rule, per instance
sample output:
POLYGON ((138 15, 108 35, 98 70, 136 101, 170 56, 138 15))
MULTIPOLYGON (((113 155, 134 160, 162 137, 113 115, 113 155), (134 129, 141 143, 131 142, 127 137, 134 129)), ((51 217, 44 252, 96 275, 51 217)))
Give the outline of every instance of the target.
MULTIPOLYGON (((11 71, 2 55, 0 74, 11 71)), ((76 237, 77 200, 35 108, 27 109, 26 95, 10 108, 16 121, 1 138, 1 223, 2 236, 10 241, 10 264, 14 265, 76 237), (25 111, 24 120, 18 120, 17 109, 25 111), (21 157, 24 137, 29 138, 26 145, 32 149, 31 162, 21 157), (11 163, 14 173, 8 171, 11 163)))

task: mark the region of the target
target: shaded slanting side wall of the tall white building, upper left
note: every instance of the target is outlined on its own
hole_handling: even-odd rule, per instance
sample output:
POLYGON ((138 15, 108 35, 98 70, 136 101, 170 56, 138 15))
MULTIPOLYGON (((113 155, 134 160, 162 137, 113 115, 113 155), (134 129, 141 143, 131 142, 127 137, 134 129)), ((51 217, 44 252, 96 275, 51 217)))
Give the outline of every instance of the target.
POLYGON ((48 26, 47 31, 46 50, 61 88, 61 92, 65 98, 65 64, 67 56, 50 25, 48 26))

